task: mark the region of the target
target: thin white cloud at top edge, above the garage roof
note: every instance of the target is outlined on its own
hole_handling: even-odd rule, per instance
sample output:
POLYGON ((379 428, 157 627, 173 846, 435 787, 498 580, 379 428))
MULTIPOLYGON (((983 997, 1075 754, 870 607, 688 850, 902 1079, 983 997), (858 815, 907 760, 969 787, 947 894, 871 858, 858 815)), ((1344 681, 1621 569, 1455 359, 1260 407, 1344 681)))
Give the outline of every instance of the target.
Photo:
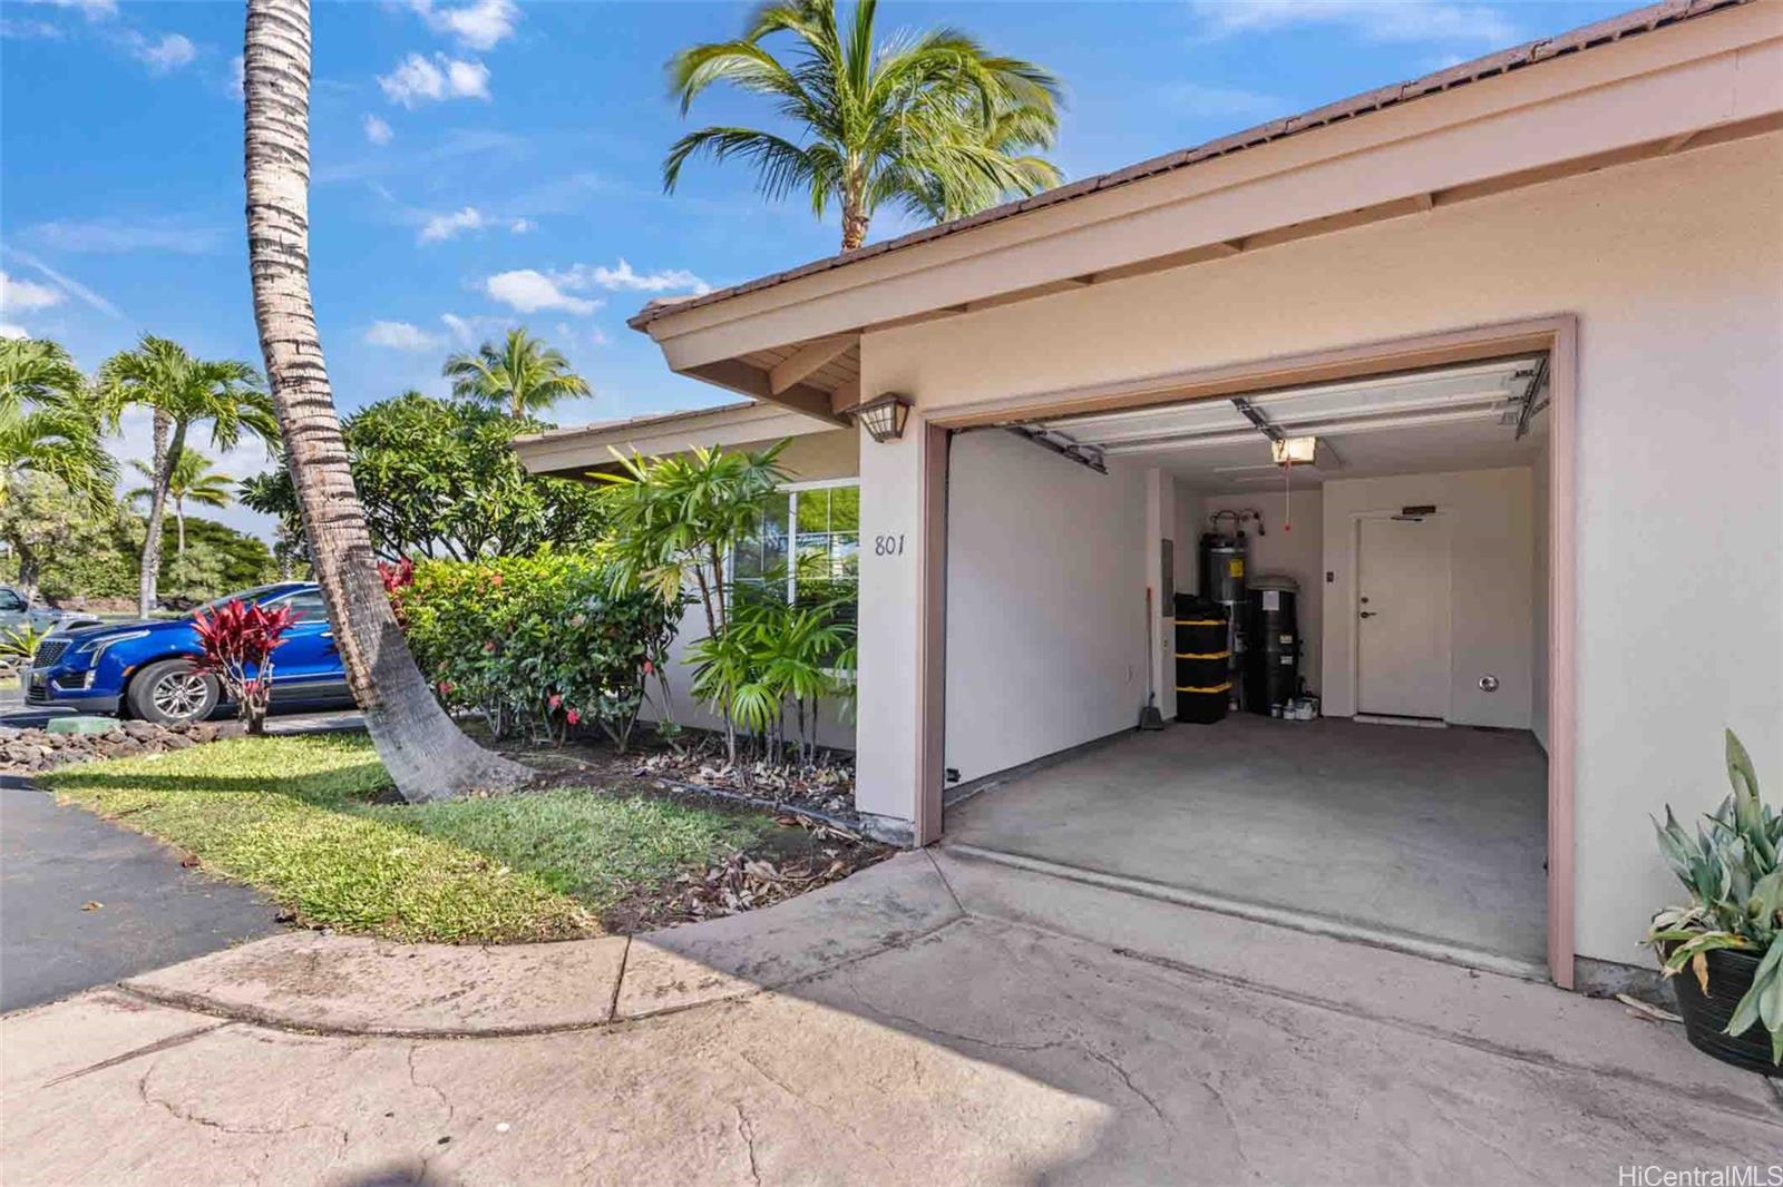
POLYGON ((1517 41, 1512 20, 1483 4, 1442 0, 1189 0, 1211 37, 1335 25, 1364 41, 1517 41))

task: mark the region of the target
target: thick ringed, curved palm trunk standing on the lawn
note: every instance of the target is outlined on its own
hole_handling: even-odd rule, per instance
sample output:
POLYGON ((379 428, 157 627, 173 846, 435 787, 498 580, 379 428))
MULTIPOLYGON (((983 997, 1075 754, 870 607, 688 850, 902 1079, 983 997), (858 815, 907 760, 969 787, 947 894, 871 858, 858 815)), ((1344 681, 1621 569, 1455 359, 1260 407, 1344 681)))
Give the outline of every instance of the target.
POLYGON ((383 594, 348 469, 310 303, 308 0, 248 0, 242 86, 253 315, 348 688, 403 798, 519 784, 530 772, 465 738, 421 677, 383 594))

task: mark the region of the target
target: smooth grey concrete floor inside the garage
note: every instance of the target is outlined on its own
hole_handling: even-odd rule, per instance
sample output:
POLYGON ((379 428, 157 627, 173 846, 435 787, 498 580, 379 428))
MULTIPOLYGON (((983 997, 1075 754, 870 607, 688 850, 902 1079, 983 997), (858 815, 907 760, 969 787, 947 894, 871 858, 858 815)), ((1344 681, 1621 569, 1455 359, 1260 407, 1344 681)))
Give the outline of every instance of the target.
POLYGON ((1232 715, 990 786, 945 843, 1541 964, 1546 784, 1526 733, 1232 715))

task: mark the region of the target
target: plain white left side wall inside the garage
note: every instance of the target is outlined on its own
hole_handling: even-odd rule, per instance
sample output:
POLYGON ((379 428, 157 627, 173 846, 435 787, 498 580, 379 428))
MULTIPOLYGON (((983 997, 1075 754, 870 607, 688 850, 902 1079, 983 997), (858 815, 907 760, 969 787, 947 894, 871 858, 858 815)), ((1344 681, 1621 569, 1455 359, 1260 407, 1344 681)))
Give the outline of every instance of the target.
POLYGON ((961 781, 1132 729, 1145 704, 1145 471, 1013 433, 954 438, 947 766, 961 781))

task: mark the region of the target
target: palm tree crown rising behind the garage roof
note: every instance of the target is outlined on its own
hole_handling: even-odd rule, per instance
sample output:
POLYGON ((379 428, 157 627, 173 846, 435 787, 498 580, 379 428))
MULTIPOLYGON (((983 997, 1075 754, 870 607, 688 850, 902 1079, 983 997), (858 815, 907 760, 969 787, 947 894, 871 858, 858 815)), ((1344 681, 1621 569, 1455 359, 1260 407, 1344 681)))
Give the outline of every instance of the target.
POLYGON ((772 100, 802 137, 688 132, 663 160, 663 189, 674 191, 688 157, 742 157, 772 200, 806 191, 818 217, 834 201, 842 250, 852 251, 884 203, 950 219, 1059 184, 1059 169, 1032 155, 1057 135, 1057 78, 956 29, 875 43, 875 0, 858 0, 843 32, 834 0, 770 0, 740 39, 678 53, 669 82, 683 116, 708 86, 729 82, 772 100), (763 46, 774 34, 797 41, 790 61, 763 46))

